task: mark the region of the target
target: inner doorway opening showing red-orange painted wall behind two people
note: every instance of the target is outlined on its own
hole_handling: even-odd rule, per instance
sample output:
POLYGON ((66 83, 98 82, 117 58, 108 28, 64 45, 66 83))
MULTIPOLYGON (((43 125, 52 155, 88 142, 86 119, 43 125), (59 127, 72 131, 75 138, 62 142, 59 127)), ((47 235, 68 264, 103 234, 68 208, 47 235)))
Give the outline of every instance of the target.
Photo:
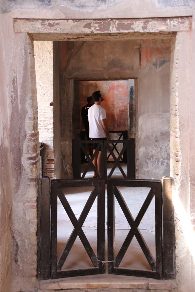
MULTIPOLYGON (((103 143, 106 145, 104 148, 104 159, 102 164, 105 164, 104 175, 101 177, 108 178, 127 178, 128 173, 128 159, 127 156, 129 153, 127 151, 131 148, 131 168, 135 168, 135 105, 134 105, 134 79, 125 79, 125 80, 75 80, 75 96, 79 102, 73 104, 73 125, 75 128, 75 139, 81 140, 80 147, 75 144, 77 150, 75 153, 80 152, 77 157, 77 161, 74 164, 73 168, 79 168, 78 173, 74 177, 81 178, 92 178, 94 169, 93 165, 89 165, 89 159, 92 156, 93 143, 88 141, 89 137, 86 135, 86 125, 88 123, 87 117, 82 116, 83 109, 89 108, 93 104, 87 102, 87 99, 90 99, 92 93, 96 90, 101 92, 103 96, 103 102, 101 106, 106 110, 106 118, 108 129, 110 133, 110 143, 103 143), (78 106, 80 112, 78 111, 78 106), (78 120, 80 116, 80 121, 78 120), (80 131, 79 131, 80 130, 80 131), (86 140, 86 142, 85 142, 86 140), (115 141, 114 141, 115 140, 115 141), (119 141, 119 140, 124 140, 119 141), (125 143, 130 140, 131 146, 125 143), (84 149, 85 148, 85 149, 84 149), (124 149, 123 149, 124 148, 124 149), (87 152, 87 153, 86 153, 87 152), (89 159, 88 159, 89 155, 89 159), (117 161, 118 159, 118 161, 117 161), (79 160, 79 162, 78 162, 79 160), (133 160, 133 161, 132 161, 133 160), (78 164, 81 162, 81 165, 78 164), (117 165, 116 165, 117 162, 117 165), (86 171, 87 168, 87 171, 86 171)), ((100 146, 102 146, 100 144, 100 146)), ((100 147, 101 148, 101 147, 100 147)), ((99 149, 100 150, 100 149, 99 149)), ((102 151, 102 150, 101 150, 102 151)), ((74 160, 73 154, 73 160, 74 160)), ((76 170, 77 171, 77 170, 76 170)), ((135 171, 133 171, 135 172, 135 171)), ((73 173, 75 173, 73 169, 73 173)), ((134 175, 131 176, 134 178, 134 175)))

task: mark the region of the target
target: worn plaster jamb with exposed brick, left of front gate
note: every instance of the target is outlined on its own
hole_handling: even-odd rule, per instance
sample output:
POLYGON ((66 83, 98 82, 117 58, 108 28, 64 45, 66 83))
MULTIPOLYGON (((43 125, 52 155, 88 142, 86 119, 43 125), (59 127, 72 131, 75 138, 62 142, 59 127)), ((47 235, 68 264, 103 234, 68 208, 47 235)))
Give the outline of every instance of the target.
MULTIPOLYGON (((10 116, 12 158, 12 283, 11 291, 35 285, 37 274, 37 178, 40 173, 37 93, 33 40, 14 34, 16 73, 13 79, 15 107, 10 116), (17 129, 18 127, 18 129, 17 129), (19 135, 13 135, 19 130, 19 135), (15 151, 15 148, 17 151, 15 151), (14 161, 17 161, 15 169, 14 161), (18 171, 19 170, 19 171, 18 171), (15 172, 18 171, 16 174, 15 172), (18 281, 20 279, 20 281, 18 281), (16 284, 17 283, 17 284, 16 284)), ((33 288, 32 288, 33 289, 33 288)))

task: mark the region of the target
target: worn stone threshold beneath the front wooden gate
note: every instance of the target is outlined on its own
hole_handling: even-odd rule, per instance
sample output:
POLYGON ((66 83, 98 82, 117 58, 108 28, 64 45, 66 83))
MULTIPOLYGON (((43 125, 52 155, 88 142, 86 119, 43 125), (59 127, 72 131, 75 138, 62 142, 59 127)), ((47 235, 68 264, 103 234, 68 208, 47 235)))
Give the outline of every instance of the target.
POLYGON ((145 289, 172 291, 176 288, 175 280, 156 280, 141 277, 121 275, 93 275, 69 277, 63 279, 41 280, 40 290, 66 290, 66 289, 145 289))

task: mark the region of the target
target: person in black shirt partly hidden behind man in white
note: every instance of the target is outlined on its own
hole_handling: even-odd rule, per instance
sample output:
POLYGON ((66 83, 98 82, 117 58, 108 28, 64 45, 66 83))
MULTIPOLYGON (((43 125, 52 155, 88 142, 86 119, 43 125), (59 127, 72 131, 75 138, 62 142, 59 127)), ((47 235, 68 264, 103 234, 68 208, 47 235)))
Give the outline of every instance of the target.
MULTIPOLYGON (((89 121, 88 121, 88 109, 94 104, 94 100, 92 96, 89 96, 87 98, 87 105, 82 107, 81 109, 81 117, 82 117, 82 124, 85 128, 85 134, 87 136, 87 140, 91 140, 89 138, 89 121)), ((93 154, 93 145, 89 144, 89 154, 92 157, 93 154)))

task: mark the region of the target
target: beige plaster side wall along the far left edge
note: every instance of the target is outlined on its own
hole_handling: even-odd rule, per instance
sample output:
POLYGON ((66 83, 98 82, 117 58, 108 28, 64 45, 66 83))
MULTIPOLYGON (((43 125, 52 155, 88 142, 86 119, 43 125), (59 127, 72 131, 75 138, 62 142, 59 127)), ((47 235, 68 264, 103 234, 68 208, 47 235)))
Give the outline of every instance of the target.
MULTIPOLYGON (((3 76, 5 63, 1 48, 2 41, 0 33, 0 75, 3 76)), ((3 78, 0 78, 0 87, 0 291, 10 291, 12 175, 6 84, 3 78)))

